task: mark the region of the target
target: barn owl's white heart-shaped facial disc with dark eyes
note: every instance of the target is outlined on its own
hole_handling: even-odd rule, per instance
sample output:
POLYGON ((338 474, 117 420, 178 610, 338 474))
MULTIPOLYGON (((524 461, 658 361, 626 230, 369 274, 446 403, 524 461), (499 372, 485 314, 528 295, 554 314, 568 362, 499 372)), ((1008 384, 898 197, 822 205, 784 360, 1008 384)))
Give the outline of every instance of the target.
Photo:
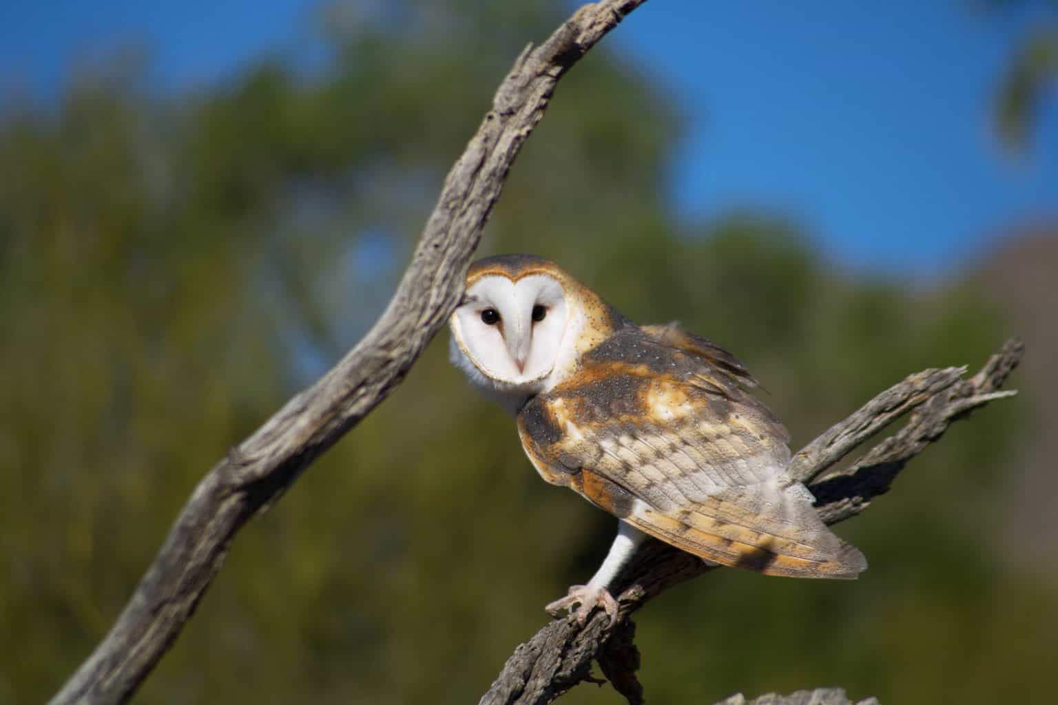
POLYGON ((494 385, 531 387, 551 372, 568 318, 566 293, 557 279, 485 276, 463 301, 452 314, 453 340, 494 385))

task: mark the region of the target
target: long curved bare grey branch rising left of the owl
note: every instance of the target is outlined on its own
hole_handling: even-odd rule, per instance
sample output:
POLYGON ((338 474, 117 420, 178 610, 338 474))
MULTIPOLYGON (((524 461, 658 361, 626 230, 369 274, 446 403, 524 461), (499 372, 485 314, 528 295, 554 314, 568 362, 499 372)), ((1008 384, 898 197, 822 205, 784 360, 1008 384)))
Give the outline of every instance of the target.
POLYGON ((239 528, 401 383, 458 303, 507 172, 559 79, 643 2, 584 5, 518 56, 449 172, 385 313, 334 368, 209 470, 117 621, 52 703, 128 700, 190 618, 239 528))

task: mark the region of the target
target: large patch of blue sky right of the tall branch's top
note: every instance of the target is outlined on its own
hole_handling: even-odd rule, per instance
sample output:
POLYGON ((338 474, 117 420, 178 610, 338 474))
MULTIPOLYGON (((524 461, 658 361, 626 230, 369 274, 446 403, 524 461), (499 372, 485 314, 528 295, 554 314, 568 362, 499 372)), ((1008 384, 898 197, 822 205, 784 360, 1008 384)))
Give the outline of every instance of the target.
POLYGON ((1033 10, 647 2, 621 41, 690 118, 679 212, 773 207, 843 264, 920 278, 982 256, 1011 224, 1058 216, 1056 96, 1028 160, 1003 153, 989 124, 1033 10))

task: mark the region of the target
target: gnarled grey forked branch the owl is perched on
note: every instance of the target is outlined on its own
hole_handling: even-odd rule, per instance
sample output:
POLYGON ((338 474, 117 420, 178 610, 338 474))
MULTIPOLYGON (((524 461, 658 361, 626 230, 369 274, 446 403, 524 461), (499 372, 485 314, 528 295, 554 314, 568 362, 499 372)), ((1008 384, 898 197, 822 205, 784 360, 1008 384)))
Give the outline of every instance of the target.
MULTIPOLYGON (((1020 340, 1007 340, 969 379, 963 379, 964 368, 912 374, 796 453, 787 475, 809 483, 808 488, 816 496, 816 507, 826 523, 835 524, 856 516, 874 497, 887 491, 907 462, 938 440, 951 422, 966 418, 970 411, 992 400, 1014 394, 997 390, 1018 366, 1023 351, 1020 340), (911 418, 899 432, 875 445, 849 468, 820 477, 860 443, 909 411, 911 418), (813 482, 814 478, 819 479, 813 482)), ((615 586, 620 610, 613 630, 607 631, 609 617, 601 611, 597 611, 583 628, 573 617, 551 621, 515 649, 480 704, 549 703, 581 681, 588 680, 594 660, 600 662, 603 672, 630 703, 641 703, 642 688, 635 678, 638 653, 631 641, 634 632, 625 626, 630 615, 672 586, 712 570, 716 569, 706 567, 688 553, 661 541, 649 540, 615 586)))

